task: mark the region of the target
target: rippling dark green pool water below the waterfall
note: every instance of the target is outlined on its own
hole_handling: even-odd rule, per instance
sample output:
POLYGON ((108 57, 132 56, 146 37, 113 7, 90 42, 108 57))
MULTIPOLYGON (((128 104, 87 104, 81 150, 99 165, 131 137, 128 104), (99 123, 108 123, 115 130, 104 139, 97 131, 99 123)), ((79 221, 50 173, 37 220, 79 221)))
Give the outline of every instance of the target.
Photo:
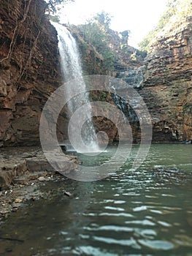
MULTIPOLYGON (((0 225, 0 255, 192 255, 192 146, 152 145, 101 181, 49 181, 55 197, 33 203, 0 225), (74 197, 66 197, 64 190, 74 197)), ((109 159, 81 157, 95 165, 109 159)))

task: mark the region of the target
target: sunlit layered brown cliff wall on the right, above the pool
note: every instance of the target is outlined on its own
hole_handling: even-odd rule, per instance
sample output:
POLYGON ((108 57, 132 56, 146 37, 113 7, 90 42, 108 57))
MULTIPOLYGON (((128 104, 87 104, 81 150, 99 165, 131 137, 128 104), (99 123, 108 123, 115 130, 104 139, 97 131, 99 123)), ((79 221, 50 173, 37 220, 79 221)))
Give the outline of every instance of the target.
POLYGON ((192 140, 192 17, 158 37, 146 59, 143 86, 153 140, 192 140))

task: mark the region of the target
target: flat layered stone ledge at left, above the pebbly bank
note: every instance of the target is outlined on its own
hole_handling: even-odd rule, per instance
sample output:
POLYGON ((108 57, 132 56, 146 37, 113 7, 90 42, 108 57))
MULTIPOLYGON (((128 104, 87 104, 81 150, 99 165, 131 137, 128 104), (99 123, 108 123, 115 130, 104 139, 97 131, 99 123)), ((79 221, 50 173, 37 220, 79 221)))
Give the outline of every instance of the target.
POLYGON ((53 150, 50 159, 57 163, 57 170, 47 161, 45 154, 39 147, 14 147, 1 148, 0 155, 0 189, 7 188, 15 178, 26 173, 55 172, 66 175, 74 170, 79 163, 77 157, 64 155, 62 152, 53 150))

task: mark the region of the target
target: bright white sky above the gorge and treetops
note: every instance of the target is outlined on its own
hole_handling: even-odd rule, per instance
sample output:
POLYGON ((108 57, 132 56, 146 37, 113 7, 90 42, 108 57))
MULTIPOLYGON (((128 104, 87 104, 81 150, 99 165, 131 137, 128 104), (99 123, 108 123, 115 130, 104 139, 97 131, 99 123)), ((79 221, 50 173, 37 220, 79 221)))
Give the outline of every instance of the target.
POLYGON ((148 31, 157 25, 166 0, 75 0, 61 10, 61 23, 85 23, 102 11, 112 16, 110 28, 131 31, 128 44, 138 48, 148 31))

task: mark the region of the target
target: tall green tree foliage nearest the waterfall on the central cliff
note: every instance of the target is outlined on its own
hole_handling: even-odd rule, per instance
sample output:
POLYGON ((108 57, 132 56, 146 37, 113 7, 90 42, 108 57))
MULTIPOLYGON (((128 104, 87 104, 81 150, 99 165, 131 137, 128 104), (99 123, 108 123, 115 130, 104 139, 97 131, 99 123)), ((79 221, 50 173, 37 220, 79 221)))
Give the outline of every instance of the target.
POLYGON ((115 56, 107 41, 110 21, 110 16, 105 12, 101 12, 92 20, 88 20, 88 23, 78 26, 78 28, 85 42, 93 45, 96 51, 101 54, 104 59, 104 67, 108 70, 113 70, 115 56))

